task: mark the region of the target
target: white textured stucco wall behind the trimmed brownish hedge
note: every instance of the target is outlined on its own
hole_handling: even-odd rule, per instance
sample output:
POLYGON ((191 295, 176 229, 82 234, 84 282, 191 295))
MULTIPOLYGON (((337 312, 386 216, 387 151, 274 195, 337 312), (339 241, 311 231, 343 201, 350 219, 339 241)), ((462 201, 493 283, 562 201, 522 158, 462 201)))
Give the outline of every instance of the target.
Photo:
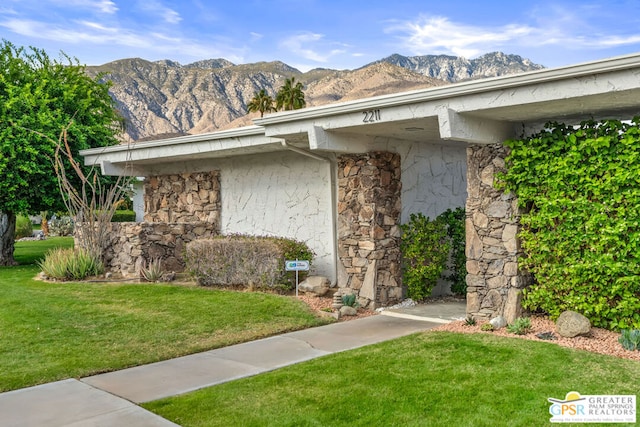
POLYGON ((306 242, 316 274, 336 280, 332 167, 297 153, 231 158, 220 171, 221 233, 306 242))

